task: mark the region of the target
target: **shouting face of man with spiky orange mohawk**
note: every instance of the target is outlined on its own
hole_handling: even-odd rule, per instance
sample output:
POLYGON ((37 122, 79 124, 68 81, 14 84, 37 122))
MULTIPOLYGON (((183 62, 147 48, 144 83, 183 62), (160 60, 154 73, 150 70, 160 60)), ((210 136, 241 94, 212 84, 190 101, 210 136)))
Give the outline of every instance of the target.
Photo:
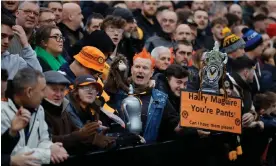
POLYGON ((150 59, 137 58, 133 61, 131 67, 131 78, 132 81, 138 85, 146 87, 153 74, 153 68, 150 59))

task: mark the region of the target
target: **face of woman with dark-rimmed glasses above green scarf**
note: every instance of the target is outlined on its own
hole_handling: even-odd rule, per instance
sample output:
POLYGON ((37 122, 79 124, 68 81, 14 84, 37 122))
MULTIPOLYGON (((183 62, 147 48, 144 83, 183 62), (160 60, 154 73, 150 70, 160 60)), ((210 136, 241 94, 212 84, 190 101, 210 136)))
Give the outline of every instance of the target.
POLYGON ((52 29, 45 47, 48 52, 54 55, 62 52, 63 36, 59 29, 52 29))

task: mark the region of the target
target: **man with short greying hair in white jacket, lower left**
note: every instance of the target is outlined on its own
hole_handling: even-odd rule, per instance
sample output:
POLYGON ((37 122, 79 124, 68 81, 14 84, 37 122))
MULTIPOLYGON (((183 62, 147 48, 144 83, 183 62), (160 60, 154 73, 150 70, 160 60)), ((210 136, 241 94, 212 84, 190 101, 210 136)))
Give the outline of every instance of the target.
POLYGON ((60 163, 67 159, 67 151, 60 143, 50 140, 44 110, 40 106, 44 98, 46 81, 44 75, 31 68, 18 71, 12 81, 12 93, 7 102, 2 102, 1 134, 12 125, 13 117, 26 108, 31 112, 31 120, 24 130, 20 130, 20 139, 12 155, 32 152, 39 164, 60 163))

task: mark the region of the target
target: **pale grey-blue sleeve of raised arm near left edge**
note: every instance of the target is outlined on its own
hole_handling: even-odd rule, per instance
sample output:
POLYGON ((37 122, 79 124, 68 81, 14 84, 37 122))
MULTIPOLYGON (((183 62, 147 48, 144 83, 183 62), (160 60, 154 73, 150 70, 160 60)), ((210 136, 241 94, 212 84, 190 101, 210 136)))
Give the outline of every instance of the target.
POLYGON ((30 45, 22 49, 21 56, 23 59, 20 58, 19 69, 26 67, 26 63, 27 63, 29 67, 32 67, 33 69, 39 70, 42 72, 42 68, 37 59, 36 53, 30 45))

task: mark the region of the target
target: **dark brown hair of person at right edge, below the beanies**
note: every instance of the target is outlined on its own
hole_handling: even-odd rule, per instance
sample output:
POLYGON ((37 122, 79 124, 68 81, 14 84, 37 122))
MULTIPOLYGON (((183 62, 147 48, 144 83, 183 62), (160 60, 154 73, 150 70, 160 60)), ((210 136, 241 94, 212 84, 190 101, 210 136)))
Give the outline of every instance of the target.
POLYGON ((254 106, 257 112, 261 109, 268 109, 273 103, 276 102, 276 94, 274 92, 265 92, 257 94, 254 97, 254 106))

